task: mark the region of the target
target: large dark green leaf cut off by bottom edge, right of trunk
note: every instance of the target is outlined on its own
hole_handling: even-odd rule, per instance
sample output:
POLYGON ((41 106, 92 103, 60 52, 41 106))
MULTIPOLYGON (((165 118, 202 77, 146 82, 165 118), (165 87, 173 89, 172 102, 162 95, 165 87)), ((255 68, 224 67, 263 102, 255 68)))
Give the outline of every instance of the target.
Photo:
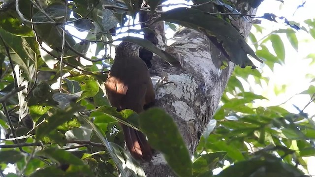
POLYGON ((224 169, 216 177, 302 177, 299 169, 281 161, 247 160, 224 169))

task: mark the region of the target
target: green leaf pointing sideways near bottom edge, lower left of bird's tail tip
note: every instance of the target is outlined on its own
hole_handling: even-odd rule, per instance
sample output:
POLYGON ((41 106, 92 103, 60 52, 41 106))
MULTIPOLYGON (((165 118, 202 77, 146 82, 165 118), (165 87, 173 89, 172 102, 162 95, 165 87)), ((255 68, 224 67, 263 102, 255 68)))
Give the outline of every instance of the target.
POLYGON ((37 151, 36 155, 53 159, 59 164, 84 165, 83 161, 68 151, 58 148, 45 148, 37 151))

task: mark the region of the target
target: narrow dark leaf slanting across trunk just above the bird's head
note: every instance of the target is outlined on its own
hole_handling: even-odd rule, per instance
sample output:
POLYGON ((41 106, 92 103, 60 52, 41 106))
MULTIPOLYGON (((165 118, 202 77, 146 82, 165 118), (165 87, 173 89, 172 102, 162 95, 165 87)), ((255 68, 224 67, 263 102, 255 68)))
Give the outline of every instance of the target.
POLYGON ((164 59, 166 62, 168 62, 171 65, 174 65, 174 66, 180 65, 180 63, 177 59, 175 59, 173 56, 169 55, 165 51, 158 49, 157 46, 152 44, 152 42, 150 42, 147 39, 141 39, 139 37, 126 36, 126 37, 122 37, 122 38, 117 39, 117 40, 132 42, 134 44, 142 46, 142 47, 146 48, 147 50, 157 54, 161 59, 164 59))

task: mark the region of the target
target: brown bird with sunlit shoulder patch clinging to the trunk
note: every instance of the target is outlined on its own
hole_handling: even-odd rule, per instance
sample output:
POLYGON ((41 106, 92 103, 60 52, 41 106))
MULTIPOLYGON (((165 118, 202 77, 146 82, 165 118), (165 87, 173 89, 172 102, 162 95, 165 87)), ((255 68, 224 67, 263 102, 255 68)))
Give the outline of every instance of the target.
MULTIPOLYGON (((105 83, 110 104, 119 111, 131 109, 141 113, 146 104, 155 101, 155 91, 145 62, 139 58, 139 46, 122 42, 116 48, 116 56, 105 83)), ((152 149, 146 136, 121 123, 126 147, 138 160, 150 161, 152 149)))

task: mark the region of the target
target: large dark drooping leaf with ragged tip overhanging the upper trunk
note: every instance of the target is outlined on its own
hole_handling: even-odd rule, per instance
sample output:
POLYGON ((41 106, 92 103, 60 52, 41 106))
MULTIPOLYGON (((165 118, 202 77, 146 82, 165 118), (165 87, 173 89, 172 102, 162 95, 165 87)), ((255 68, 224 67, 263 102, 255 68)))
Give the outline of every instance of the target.
POLYGON ((240 35, 239 31, 231 24, 215 15, 193 8, 179 7, 163 13, 156 22, 161 20, 205 32, 210 39, 215 38, 215 40, 211 41, 218 44, 219 46, 217 45, 217 47, 219 47, 219 49, 222 47, 224 51, 221 51, 226 52, 232 62, 241 67, 255 67, 252 61, 247 57, 247 54, 262 62, 240 35))

